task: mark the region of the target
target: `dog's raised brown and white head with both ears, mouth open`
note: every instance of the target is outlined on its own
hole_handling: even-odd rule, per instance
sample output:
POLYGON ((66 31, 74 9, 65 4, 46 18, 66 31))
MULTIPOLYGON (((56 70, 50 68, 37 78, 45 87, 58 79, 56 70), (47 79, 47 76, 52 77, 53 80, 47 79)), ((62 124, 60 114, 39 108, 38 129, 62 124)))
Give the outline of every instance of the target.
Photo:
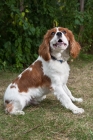
POLYGON ((63 53, 69 47, 70 54, 76 58, 80 51, 80 45, 75 41, 73 33, 63 27, 55 27, 48 30, 44 36, 43 43, 39 48, 39 55, 45 61, 51 59, 51 52, 63 53))

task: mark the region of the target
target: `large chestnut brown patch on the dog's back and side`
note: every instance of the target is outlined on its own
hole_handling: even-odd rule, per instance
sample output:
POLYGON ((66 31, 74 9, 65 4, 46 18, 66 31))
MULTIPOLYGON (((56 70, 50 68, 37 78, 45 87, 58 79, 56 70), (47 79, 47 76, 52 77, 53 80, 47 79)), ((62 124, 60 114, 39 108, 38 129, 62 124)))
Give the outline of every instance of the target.
POLYGON ((25 70, 21 78, 16 78, 13 82, 18 85, 19 92, 27 92, 29 88, 37 88, 39 86, 50 88, 51 80, 44 75, 41 61, 36 61, 29 68, 32 68, 32 70, 25 70))

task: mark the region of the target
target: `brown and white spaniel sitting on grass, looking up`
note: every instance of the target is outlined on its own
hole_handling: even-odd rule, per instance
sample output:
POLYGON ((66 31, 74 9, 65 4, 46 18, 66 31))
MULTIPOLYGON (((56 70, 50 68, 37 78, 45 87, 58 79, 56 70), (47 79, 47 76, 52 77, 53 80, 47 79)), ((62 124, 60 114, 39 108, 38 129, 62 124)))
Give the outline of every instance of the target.
POLYGON ((74 101, 82 102, 82 98, 73 97, 66 85, 70 71, 66 50, 73 58, 79 54, 80 45, 75 41, 73 33, 63 27, 48 30, 39 47, 37 60, 6 89, 4 105, 7 113, 24 114, 24 107, 31 103, 37 104, 50 92, 74 114, 84 112, 73 104, 74 101))

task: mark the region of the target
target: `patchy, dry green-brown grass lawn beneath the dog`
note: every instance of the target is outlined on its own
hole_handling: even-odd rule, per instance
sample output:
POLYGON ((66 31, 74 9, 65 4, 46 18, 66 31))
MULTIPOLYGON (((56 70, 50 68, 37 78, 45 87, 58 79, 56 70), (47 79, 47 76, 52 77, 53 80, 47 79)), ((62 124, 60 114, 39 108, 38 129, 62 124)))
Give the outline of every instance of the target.
POLYGON ((53 96, 38 106, 24 109, 24 116, 6 115, 3 94, 18 74, 0 72, 0 140, 93 140, 93 62, 76 60, 70 63, 68 87, 83 103, 82 115, 74 115, 53 96))

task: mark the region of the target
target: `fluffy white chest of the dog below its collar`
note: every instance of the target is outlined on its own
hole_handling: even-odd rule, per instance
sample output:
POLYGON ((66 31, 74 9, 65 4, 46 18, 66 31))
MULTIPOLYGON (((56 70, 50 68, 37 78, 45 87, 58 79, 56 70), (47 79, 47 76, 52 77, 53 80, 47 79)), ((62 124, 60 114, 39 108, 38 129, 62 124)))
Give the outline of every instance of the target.
POLYGON ((50 77, 52 83, 67 83, 69 71, 67 62, 61 63, 51 60, 49 63, 43 63, 43 72, 50 77))

